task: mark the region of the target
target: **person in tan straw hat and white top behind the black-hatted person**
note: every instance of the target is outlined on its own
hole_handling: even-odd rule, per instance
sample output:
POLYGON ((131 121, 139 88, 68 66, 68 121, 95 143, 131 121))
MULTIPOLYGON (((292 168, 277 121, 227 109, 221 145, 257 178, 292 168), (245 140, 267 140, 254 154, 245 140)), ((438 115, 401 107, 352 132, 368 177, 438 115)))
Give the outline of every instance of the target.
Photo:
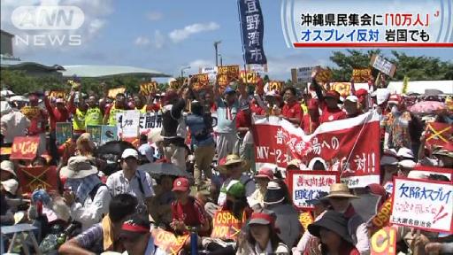
POLYGON ((346 218, 347 224, 345 225, 347 226, 348 239, 352 241, 357 250, 360 251, 360 254, 369 254, 370 240, 365 221, 356 213, 354 207, 350 204, 350 199, 358 197, 350 194, 346 184, 334 183, 330 186, 329 195, 326 198, 328 198, 334 211, 342 213, 346 218))

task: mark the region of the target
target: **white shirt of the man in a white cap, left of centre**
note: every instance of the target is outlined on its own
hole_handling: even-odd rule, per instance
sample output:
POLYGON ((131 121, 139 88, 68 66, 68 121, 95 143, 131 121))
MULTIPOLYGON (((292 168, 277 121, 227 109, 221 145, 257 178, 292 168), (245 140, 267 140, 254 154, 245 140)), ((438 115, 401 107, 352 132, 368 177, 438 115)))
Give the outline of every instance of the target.
POLYGON ((135 175, 129 182, 124 176, 122 170, 111 174, 107 178, 107 187, 110 189, 111 197, 119 194, 130 194, 137 197, 139 203, 145 204, 144 200, 148 197, 154 197, 153 182, 150 174, 141 170, 136 170, 135 175), (143 191, 140 189, 139 182, 142 182, 143 191))

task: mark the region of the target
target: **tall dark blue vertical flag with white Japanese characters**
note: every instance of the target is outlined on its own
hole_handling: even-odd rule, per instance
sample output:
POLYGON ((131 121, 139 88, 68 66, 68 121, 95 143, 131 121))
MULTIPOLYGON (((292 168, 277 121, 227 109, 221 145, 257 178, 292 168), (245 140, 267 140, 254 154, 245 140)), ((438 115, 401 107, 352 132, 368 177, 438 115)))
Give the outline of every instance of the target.
POLYGON ((242 47, 246 64, 267 64, 263 37, 265 25, 259 0, 238 0, 241 16, 242 47))

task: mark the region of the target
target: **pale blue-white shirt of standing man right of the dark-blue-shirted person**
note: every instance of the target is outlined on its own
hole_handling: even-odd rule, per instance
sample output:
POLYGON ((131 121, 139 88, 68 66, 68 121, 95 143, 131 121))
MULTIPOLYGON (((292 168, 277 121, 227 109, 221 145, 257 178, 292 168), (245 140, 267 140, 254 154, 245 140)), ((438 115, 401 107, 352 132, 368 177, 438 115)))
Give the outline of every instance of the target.
POLYGON ((227 106, 221 98, 217 99, 217 131, 219 133, 236 133, 236 114, 239 112, 239 102, 227 106))

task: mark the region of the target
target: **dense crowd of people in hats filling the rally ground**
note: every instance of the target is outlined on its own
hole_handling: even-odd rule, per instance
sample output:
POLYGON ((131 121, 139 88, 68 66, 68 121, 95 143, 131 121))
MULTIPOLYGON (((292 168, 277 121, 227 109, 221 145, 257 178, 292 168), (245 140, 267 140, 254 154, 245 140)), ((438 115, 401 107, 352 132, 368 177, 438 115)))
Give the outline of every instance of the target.
MULTIPOLYGON (((50 97, 49 92, 30 93, 27 106, 39 109, 33 114, 23 111, 25 104, 3 98, 1 146, 11 147, 17 136, 38 136, 40 142, 33 160, 9 160, 2 155, 1 225, 38 226, 35 235, 40 243, 49 241, 59 228, 64 239, 54 247, 58 254, 168 254, 155 243, 152 234, 157 229, 187 236, 180 254, 370 254, 370 238, 377 229, 356 212, 351 201, 365 192, 379 196, 382 205, 389 196, 383 186, 394 176, 451 182, 443 175, 411 170, 423 165, 453 171, 453 138, 433 147, 426 144, 425 135, 429 121, 452 125, 453 109, 420 116, 409 111, 404 95, 391 94, 372 80, 369 89, 357 91, 352 81, 350 95, 343 98, 328 84, 319 85, 318 73, 312 74, 313 93, 293 87, 265 91, 263 84, 249 91, 242 82, 223 91, 214 86, 195 93, 188 79, 178 91, 98 98, 95 94, 84 97, 82 86, 75 86, 67 102, 50 97), (162 130, 140 134, 138 145, 129 144, 111 162, 100 157, 87 127, 116 126, 117 113, 127 110, 159 112, 162 130), (302 212, 293 205, 282 173, 301 169, 301 164, 290 160, 286 169, 255 168, 253 115, 279 116, 312 134, 323 123, 369 111, 380 113, 380 183, 362 189, 334 183, 328 193, 308 201, 313 209, 305 213, 314 220, 303 226, 302 212), (212 128, 212 112, 217 114, 216 128, 212 128), (73 137, 59 144, 57 123, 69 121, 73 137), (152 176, 141 167, 147 163, 171 164, 184 174, 152 176), (114 171, 109 168, 112 164, 114 171), (37 189, 24 197, 18 177, 21 166, 57 166, 58 189, 37 189), (225 235, 213 231, 222 215, 234 223, 225 235), (76 230, 67 230, 74 225, 76 230)), ((302 170, 329 170, 320 161, 307 168, 302 170)), ((416 232, 397 228, 398 252, 453 254, 451 235, 416 232)), ((10 243, 4 239, 2 244, 10 243)), ((12 244, 18 252, 28 245, 12 244)), ((44 246, 40 248, 45 251, 44 246)))

